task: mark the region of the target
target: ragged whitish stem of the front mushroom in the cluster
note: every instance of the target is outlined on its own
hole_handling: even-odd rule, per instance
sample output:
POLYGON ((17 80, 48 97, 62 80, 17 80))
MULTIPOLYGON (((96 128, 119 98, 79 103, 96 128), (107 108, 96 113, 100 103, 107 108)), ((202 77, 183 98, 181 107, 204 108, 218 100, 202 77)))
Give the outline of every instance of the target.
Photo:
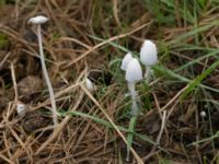
POLYGON ((138 114, 138 105, 137 105, 137 92, 136 92, 136 83, 128 82, 128 90, 131 95, 131 115, 136 116, 138 114))

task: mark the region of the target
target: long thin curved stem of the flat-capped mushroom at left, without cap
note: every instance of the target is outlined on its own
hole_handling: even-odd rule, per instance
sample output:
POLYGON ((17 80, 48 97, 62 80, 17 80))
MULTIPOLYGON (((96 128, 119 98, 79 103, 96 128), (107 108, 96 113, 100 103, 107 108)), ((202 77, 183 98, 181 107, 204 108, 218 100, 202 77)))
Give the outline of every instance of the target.
POLYGON ((48 87, 49 97, 50 97, 50 102, 51 102, 54 126, 57 126, 58 125, 57 107, 56 107, 56 101, 55 101, 55 96, 54 96, 54 90, 53 90, 51 82, 49 80, 48 72, 47 72, 47 69, 46 69, 44 50, 43 50, 43 42, 42 42, 42 33, 41 33, 41 25, 37 25, 37 36, 38 36, 38 48, 39 48, 39 55, 41 55, 42 70, 43 70, 43 73, 44 73, 44 78, 46 80, 46 84, 47 84, 47 87, 48 87))

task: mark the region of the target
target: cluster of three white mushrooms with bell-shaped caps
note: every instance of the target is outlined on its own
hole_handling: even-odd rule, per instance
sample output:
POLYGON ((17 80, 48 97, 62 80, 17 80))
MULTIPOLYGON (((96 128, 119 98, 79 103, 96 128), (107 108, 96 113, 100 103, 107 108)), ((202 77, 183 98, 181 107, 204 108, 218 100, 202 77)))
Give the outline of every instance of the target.
MULTIPOLYGON (((146 66, 145 78, 149 79, 151 66, 158 61, 157 46, 151 40, 146 39, 140 49, 140 61, 146 66)), ((131 95, 131 115, 138 114, 136 83, 142 80, 142 69, 140 62, 128 52, 123 61, 120 69, 126 71, 126 81, 131 95)))

